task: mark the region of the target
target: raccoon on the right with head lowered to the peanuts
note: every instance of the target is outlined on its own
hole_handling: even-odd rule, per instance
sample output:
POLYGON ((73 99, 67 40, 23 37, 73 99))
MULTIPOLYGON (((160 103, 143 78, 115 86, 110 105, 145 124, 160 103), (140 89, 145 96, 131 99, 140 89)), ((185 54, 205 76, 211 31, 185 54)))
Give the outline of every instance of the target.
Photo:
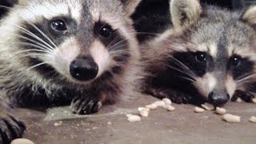
POLYGON ((242 12, 170 3, 174 27, 142 46, 147 94, 177 103, 251 102, 256 92, 256 6, 242 12), (146 82, 146 83, 147 83, 146 82))

